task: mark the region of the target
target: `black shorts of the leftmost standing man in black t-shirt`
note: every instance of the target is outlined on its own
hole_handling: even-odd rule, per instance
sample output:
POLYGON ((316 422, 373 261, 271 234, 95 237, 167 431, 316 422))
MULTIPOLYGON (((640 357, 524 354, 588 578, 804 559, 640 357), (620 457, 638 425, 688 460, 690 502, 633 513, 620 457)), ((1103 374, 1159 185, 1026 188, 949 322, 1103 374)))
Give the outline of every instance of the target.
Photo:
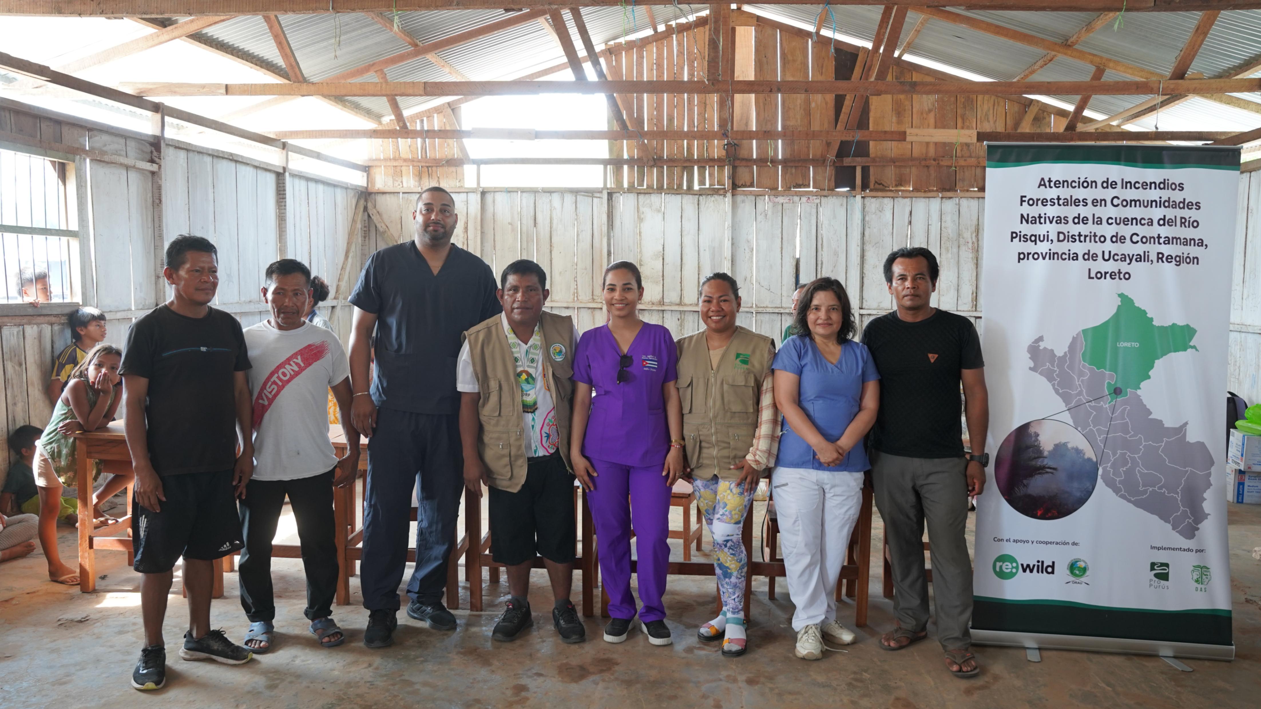
POLYGON ((214 560, 243 546, 232 471, 163 476, 161 488, 161 512, 132 500, 135 570, 161 574, 180 556, 214 560))

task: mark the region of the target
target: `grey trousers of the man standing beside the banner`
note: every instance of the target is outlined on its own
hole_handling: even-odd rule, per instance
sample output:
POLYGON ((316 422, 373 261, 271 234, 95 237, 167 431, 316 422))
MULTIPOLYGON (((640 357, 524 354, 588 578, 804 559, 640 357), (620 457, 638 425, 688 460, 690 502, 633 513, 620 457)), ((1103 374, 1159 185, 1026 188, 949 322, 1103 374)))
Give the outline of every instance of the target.
POLYGON ((972 561, 967 555, 966 458, 871 453, 875 505, 893 566, 893 614, 913 632, 928 626, 924 522, 933 569, 937 640, 946 650, 972 645, 972 561))

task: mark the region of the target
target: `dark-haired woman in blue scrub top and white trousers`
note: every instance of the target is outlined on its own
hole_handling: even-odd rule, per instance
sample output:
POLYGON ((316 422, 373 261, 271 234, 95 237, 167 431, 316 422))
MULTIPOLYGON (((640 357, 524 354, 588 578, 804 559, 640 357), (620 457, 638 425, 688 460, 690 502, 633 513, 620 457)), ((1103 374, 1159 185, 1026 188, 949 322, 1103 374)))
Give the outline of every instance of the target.
POLYGON ((863 438, 875 424, 880 375, 857 331, 845 286, 806 284, 789 337, 776 354, 776 405, 784 416, 770 487, 788 594, 797 606, 794 655, 823 656, 823 641, 854 642, 836 621, 836 582, 863 498, 863 438))

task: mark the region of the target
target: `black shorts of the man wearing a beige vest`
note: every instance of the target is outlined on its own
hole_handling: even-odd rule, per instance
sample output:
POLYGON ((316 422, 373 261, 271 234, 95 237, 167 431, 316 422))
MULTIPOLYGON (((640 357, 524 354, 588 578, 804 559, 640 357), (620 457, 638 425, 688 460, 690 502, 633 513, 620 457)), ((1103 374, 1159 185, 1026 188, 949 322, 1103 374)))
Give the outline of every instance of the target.
POLYGON ((536 554, 557 564, 574 561, 574 476, 560 454, 531 460, 517 492, 492 487, 489 502, 497 564, 525 564, 536 554))

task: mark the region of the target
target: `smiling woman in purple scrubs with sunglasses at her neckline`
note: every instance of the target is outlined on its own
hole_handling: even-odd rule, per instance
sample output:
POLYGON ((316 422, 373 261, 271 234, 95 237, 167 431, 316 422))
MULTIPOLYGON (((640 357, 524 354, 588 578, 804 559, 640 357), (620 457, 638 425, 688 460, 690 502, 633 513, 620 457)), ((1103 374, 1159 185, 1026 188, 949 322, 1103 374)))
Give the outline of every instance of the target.
POLYGON ((670 645, 661 597, 670 564, 670 492, 683 473, 683 414, 675 389, 675 338, 665 327, 639 319, 642 298, 643 281, 634 264, 617 261, 604 269, 609 322, 583 333, 574 353, 570 457, 588 491, 609 594, 613 619, 604 640, 624 641, 636 616, 630 595, 634 526, 643 602, 639 621, 648 642, 670 645))

